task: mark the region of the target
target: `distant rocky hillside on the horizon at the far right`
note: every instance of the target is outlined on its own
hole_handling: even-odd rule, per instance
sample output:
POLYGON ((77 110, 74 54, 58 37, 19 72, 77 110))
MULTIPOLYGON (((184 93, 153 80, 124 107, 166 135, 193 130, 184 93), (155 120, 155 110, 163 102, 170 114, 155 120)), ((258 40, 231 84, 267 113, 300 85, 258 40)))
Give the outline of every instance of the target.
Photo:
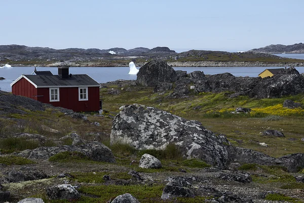
POLYGON ((257 49, 251 49, 249 52, 254 53, 270 53, 270 54, 281 54, 281 53, 304 53, 304 44, 298 43, 294 45, 269 45, 257 49))

